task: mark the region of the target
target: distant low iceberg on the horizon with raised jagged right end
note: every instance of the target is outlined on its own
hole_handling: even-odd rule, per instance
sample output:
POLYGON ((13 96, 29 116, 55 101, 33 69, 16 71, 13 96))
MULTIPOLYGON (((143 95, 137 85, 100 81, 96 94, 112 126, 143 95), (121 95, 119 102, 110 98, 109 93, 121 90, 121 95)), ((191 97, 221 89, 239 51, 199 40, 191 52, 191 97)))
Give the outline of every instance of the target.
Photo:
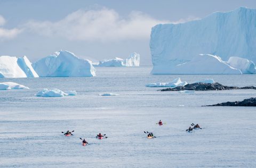
POLYGON ((100 61, 98 66, 140 66, 140 54, 134 52, 125 60, 118 57, 105 59, 100 61))

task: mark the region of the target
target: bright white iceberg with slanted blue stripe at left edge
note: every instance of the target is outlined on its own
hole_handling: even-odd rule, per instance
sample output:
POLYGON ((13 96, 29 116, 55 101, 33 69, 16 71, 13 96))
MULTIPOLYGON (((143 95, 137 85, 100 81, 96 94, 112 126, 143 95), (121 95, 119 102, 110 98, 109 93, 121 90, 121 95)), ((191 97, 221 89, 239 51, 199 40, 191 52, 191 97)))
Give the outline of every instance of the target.
POLYGON ((0 56, 0 78, 38 77, 26 56, 0 56))

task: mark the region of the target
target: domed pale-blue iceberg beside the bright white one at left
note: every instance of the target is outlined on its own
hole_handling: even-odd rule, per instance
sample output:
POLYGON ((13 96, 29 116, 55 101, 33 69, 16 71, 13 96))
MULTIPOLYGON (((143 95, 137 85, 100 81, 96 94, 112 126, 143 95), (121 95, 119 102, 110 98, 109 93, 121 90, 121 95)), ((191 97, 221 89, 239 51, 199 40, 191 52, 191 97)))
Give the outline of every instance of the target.
POLYGON ((95 69, 92 62, 78 58, 68 51, 55 52, 33 63, 39 77, 92 77, 95 69))

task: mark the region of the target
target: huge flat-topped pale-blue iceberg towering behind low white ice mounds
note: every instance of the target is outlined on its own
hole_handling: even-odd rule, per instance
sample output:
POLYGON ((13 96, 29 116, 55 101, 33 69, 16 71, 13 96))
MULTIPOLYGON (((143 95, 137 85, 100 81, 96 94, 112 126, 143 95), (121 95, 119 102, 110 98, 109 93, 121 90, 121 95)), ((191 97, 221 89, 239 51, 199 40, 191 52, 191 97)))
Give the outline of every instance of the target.
MULTIPOLYGON (((231 56, 236 56, 255 63, 255 25, 256 10, 245 7, 231 12, 215 12, 201 20, 186 23, 158 24, 152 28, 150 38, 150 50, 154 65, 152 73, 188 73, 189 70, 174 67, 186 64, 191 60, 195 61, 194 57, 198 57, 198 54, 202 53, 218 55, 223 61, 228 61, 231 56)), ((244 65, 244 62, 240 61, 236 65, 231 63, 229 65, 234 69, 241 70, 241 65, 244 65)), ((200 70, 190 69, 190 74, 220 73, 218 68, 214 69, 214 67, 210 68, 211 71, 202 72, 202 69, 197 68, 202 64, 194 62, 195 66, 191 66, 190 63, 189 68, 200 70)), ((187 68, 186 65, 183 67, 187 68)), ((251 70, 251 68, 249 69, 251 70)), ((237 70, 225 70, 222 73, 237 72, 237 70)), ((241 72, 255 73, 254 70, 244 71, 244 69, 241 72)))

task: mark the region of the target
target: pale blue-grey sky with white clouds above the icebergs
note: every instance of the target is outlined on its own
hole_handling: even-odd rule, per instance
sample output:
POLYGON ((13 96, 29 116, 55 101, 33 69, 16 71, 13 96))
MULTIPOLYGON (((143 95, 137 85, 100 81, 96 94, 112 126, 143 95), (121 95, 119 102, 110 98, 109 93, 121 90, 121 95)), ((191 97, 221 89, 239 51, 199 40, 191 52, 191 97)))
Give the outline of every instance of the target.
POLYGON ((34 62, 62 49, 97 61, 137 52, 151 65, 151 27, 241 6, 256 9, 256 1, 0 0, 0 55, 34 62))

